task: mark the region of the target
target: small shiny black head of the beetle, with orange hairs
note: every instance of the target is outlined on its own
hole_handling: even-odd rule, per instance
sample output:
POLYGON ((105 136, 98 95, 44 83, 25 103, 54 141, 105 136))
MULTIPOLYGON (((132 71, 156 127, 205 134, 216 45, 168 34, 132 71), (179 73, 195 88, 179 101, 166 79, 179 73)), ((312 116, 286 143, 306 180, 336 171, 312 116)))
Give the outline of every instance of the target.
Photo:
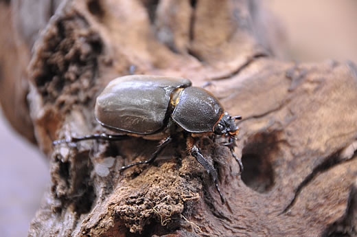
POLYGON ((235 125, 235 120, 241 120, 240 116, 230 116, 225 112, 217 124, 214 126, 214 133, 224 137, 232 137, 238 133, 238 126, 235 125))

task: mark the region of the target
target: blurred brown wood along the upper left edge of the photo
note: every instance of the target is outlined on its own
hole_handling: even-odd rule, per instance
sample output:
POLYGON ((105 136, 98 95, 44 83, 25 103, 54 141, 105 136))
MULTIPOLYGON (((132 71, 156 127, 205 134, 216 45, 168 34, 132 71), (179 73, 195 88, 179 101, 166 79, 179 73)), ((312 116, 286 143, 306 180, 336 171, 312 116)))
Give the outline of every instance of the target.
POLYGON ((30 62, 30 49, 14 30, 14 17, 10 3, 0 2, 0 104, 12 127, 30 142, 36 143, 26 98, 29 91, 26 68, 30 62))

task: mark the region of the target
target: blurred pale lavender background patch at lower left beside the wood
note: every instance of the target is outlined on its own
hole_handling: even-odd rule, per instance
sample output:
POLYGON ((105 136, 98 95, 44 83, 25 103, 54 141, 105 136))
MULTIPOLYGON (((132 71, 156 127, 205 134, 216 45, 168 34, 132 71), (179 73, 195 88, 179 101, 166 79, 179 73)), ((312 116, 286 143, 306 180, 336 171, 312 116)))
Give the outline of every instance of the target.
POLYGON ((49 184, 49 167, 40 151, 14 132, 1 112, 0 144, 0 236, 27 236, 49 184))

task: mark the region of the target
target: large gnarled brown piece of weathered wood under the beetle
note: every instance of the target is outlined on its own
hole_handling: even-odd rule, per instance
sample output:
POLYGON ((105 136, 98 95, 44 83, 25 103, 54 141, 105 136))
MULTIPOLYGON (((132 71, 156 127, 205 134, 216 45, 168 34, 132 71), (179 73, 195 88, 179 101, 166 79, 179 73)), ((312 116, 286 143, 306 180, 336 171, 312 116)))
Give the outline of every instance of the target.
POLYGON ((356 65, 274 60, 279 41, 266 22, 256 1, 64 1, 28 72, 34 132, 51 163, 30 236, 356 236, 356 65), (181 137, 156 165, 122 174, 157 142, 51 145, 105 131, 95 96, 132 66, 211 82, 243 116, 241 176, 219 139, 200 139, 225 205, 181 137))

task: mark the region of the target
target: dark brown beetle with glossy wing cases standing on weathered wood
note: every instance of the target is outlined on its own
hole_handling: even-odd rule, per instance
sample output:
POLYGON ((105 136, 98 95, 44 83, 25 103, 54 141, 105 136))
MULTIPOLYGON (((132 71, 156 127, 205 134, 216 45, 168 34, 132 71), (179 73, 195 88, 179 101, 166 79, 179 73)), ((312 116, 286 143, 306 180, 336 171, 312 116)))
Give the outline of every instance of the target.
POLYGON ((172 135, 183 133, 187 150, 209 174, 224 203, 218 186, 218 174, 214 166, 200 152, 196 137, 216 134, 227 137, 233 157, 243 170, 242 161, 233 153, 238 126, 218 99, 200 87, 192 87, 186 78, 167 76, 130 75, 116 78, 108 83, 95 102, 95 119, 108 130, 119 133, 99 133, 83 137, 59 139, 54 145, 79 142, 87 139, 120 140, 130 136, 162 140, 157 150, 146 161, 123 166, 120 171, 143 163, 152 163, 161 151, 172 142, 172 135))

